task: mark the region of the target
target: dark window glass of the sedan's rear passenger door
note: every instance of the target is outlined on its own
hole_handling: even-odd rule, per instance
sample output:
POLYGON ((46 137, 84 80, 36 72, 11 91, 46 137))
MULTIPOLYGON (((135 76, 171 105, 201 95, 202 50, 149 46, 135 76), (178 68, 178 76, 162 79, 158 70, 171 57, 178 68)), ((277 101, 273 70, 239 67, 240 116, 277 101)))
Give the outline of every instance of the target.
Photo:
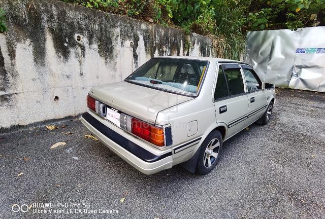
POLYGON ((239 68, 219 67, 214 99, 245 93, 244 82, 239 68))

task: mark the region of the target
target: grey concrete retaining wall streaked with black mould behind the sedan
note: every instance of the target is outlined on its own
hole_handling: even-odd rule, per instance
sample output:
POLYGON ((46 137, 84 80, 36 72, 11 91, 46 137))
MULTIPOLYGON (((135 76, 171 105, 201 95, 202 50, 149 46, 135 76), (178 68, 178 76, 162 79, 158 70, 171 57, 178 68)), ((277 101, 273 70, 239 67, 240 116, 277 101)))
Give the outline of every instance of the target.
POLYGON ((94 85, 153 56, 213 56, 211 40, 53 0, 0 0, 0 128, 78 115, 94 85), (189 48, 185 50, 185 48, 189 48))

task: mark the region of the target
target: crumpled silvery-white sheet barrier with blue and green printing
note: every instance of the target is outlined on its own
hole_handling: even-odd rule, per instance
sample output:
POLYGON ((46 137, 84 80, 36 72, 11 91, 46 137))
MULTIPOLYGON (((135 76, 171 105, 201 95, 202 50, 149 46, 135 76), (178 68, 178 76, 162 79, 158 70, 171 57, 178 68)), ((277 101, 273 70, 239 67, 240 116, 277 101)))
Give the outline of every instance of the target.
POLYGON ((248 32, 244 61, 278 87, 325 92, 325 26, 248 32))

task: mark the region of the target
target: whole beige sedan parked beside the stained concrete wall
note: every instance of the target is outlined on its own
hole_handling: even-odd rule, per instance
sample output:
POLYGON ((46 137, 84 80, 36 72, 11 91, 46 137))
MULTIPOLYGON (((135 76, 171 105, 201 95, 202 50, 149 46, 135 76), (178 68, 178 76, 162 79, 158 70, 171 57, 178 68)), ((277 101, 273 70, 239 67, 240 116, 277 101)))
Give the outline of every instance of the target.
POLYGON ((274 85, 247 63, 156 57, 122 82, 91 88, 81 121, 145 174, 176 164, 206 174, 222 142, 254 122, 267 124, 274 102, 274 85))

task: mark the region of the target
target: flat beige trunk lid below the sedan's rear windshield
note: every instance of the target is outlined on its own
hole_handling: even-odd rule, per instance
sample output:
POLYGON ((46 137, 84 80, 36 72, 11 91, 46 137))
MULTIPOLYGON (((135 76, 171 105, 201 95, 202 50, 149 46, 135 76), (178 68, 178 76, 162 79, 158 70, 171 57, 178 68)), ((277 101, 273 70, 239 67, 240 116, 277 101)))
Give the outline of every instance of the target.
POLYGON ((124 81, 93 87, 89 94, 123 113, 151 123, 155 123, 163 109, 193 99, 124 81))

